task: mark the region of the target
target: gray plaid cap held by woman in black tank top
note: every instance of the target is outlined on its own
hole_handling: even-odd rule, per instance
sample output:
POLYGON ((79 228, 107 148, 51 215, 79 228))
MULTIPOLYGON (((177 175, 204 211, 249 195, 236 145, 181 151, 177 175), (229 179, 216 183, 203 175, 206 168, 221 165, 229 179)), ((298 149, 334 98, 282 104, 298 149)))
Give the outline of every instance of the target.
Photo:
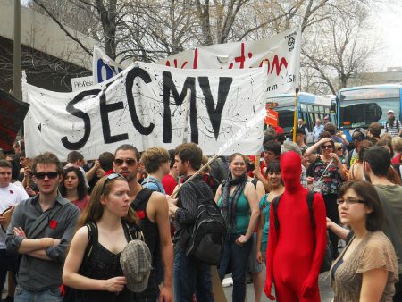
POLYGON ((120 264, 128 289, 133 292, 147 289, 152 268, 152 256, 144 241, 131 240, 121 252, 120 264))

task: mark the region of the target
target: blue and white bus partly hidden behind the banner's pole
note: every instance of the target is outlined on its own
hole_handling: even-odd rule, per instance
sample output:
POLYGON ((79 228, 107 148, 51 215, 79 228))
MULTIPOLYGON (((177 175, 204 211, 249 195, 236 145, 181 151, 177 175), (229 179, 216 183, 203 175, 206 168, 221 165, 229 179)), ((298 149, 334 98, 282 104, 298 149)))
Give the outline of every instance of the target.
MULTIPOLYGON (((278 112, 279 125, 289 133, 293 128, 295 113, 295 94, 281 94, 268 97, 266 107, 278 112)), ((307 129, 312 132, 315 120, 330 116, 330 122, 336 124, 336 96, 315 96, 300 92, 297 95, 297 119, 306 122, 307 129)))

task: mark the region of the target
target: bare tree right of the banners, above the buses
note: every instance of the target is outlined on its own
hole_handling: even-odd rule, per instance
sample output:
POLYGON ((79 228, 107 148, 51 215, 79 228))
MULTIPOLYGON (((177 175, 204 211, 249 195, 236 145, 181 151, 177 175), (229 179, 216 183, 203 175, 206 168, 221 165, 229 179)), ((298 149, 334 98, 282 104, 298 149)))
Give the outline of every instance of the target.
POLYGON ((366 35, 367 17, 364 5, 348 3, 333 7, 331 17, 314 26, 302 48, 304 67, 311 77, 306 86, 309 91, 322 92, 326 86, 327 92, 337 94, 348 86, 348 80, 367 70, 378 45, 378 39, 366 35))

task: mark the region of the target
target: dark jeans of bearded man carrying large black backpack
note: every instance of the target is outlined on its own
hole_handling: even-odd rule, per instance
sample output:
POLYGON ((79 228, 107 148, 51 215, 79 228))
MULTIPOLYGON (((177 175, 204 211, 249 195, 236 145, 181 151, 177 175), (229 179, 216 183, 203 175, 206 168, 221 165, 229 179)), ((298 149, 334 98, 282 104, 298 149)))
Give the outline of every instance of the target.
POLYGON ((214 302, 211 267, 193 257, 188 257, 179 247, 174 251, 174 300, 176 302, 214 302))

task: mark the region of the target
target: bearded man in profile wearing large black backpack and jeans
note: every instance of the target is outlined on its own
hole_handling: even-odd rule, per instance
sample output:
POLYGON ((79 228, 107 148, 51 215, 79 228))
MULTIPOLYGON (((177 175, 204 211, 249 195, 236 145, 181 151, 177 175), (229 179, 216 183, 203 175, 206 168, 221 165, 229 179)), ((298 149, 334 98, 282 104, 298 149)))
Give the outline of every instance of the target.
POLYGON ((203 178, 197 175, 186 182, 201 167, 203 152, 194 143, 183 143, 176 147, 175 164, 184 183, 180 187, 177 199, 168 198, 169 211, 174 218, 174 300, 192 301, 196 295, 197 301, 213 302, 211 268, 196 258, 186 256, 188 247, 188 230, 196 222, 197 208, 201 200, 192 188, 196 186, 204 198, 214 199, 212 189, 203 178))

